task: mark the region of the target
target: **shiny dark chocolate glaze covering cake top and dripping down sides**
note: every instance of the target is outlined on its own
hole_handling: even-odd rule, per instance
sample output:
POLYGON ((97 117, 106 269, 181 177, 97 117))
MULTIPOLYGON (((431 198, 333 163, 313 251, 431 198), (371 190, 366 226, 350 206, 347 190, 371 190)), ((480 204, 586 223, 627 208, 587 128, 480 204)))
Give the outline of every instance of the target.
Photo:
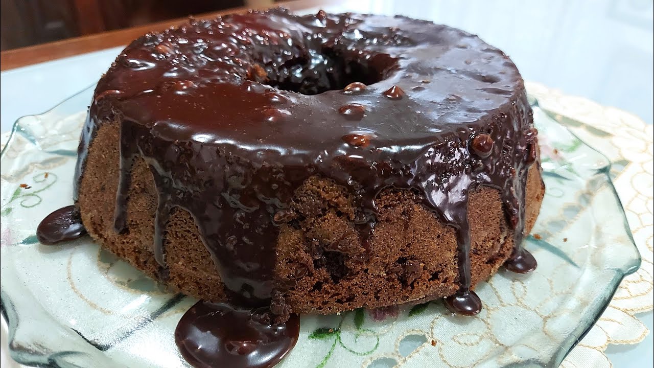
POLYGON ((140 156, 158 191, 156 260, 165 269, 171 209, 188 210, 232 303, 288 318, 275 241, 294 216, 295 189, 313 175, 355 194, 364 245, 380 191, 419 193, 456 231, 460 287, 446 303, 455 312, 481 310, 470 290, 473 189, 500 191, 515 229, 508 268, 536 267, 520 246, 526 172, 539 154, 532 111, 513 62, 470 33, 402 16, 280 9, 191 20, 131 43, 95 96, 76 195, 95 133, 120 122, 115 230, 128 231, 140 156))

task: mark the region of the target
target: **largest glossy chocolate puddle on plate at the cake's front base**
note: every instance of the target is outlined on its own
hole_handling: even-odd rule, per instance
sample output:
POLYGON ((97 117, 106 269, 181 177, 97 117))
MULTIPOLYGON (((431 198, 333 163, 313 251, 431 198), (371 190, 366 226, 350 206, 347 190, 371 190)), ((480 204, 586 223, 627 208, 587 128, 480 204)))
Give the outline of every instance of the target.
POLYGON ((267 308, 239 309, 199 301, 177 324, 175 342, 188 363, 198 368, 266 368, 295 346, 300 318, 273 323, 267 308))

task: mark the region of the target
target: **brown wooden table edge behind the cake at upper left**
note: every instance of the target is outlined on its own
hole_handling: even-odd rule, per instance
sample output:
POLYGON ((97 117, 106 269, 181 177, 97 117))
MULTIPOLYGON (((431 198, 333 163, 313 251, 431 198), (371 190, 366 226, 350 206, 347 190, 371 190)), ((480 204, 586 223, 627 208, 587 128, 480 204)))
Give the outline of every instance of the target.
MULTIPOLYGON (((292 0, 275 3, 273 7, 284 7, 289 10, 302 10, 328 4, 334 5, 334 3, 334 1, 328 0, 292 0)), ((247 7, 225 9, 218 12, 198 14, 194 16, 194 18, 211 19, 224 14, 246 12, 248 9, 249 8, 247 7)), ((105 48, 126 46, 132 40, 137 39, 145 33, 150 31, 162 31, 169 27, 179 26, 184 22, 188 22, 188 17, 3 51, 0 52, 0 71, 48 62, 50 60, 57 60, 78 54, 86 54, 87 52, 94 52, 105 48)))

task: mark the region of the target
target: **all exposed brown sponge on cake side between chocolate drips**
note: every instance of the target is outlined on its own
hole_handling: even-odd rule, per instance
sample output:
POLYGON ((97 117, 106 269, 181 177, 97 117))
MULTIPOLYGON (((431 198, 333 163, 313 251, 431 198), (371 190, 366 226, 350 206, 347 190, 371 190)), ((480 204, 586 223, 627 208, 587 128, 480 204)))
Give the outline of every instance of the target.
MULTIPOLYGON (((78 206, 92 237, 149 276, 174 289, 211 301, 224 300, 220 276, 190 213, 175 208, 165 227, 168 270, 152 252, 157 192, 152 172, 137 158, 131 172, 128 230, 113 230, 118 186, 120 127, 102 124, 88 154, 78 206)), ((526 233, 531 229, 544 189, 538 166, 526 184, 526 233)), ((332 313, 361 306, 436 299, 458 289, 453 229, 418 204, 409 192, 381 195, 379 223, 370 241, 370 259, 362 258, 351 218, 352 198, 326 179, 305 181, 293 202, 301 221, 281 226, 277 245, 277 284, 283 285, 293 312, 332 313)), ((470 194, 473 284, 485 280, 506 261, 513 247, 498 191, 482 187, 470 194)))

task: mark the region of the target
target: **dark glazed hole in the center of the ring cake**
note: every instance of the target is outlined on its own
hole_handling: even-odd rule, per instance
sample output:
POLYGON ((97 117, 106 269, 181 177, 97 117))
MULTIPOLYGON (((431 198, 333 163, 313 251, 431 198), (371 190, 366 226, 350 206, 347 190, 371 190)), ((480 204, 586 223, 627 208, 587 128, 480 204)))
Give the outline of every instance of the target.
MULTIPOLYGON (((264 81, 275 88, 299 94, 321 94, 342 90, 350 83, 366 85, 385 79, 388 70, 397 62, 386 54, 370 58, 344 56, 333 48, 309 50, 307 56, 288 60, 281 65, 264 65, 264 81)), ((261 77, 261 76, 258 76, 261 77)), ((261 81, 255 77, 251 80, 261 81)))

